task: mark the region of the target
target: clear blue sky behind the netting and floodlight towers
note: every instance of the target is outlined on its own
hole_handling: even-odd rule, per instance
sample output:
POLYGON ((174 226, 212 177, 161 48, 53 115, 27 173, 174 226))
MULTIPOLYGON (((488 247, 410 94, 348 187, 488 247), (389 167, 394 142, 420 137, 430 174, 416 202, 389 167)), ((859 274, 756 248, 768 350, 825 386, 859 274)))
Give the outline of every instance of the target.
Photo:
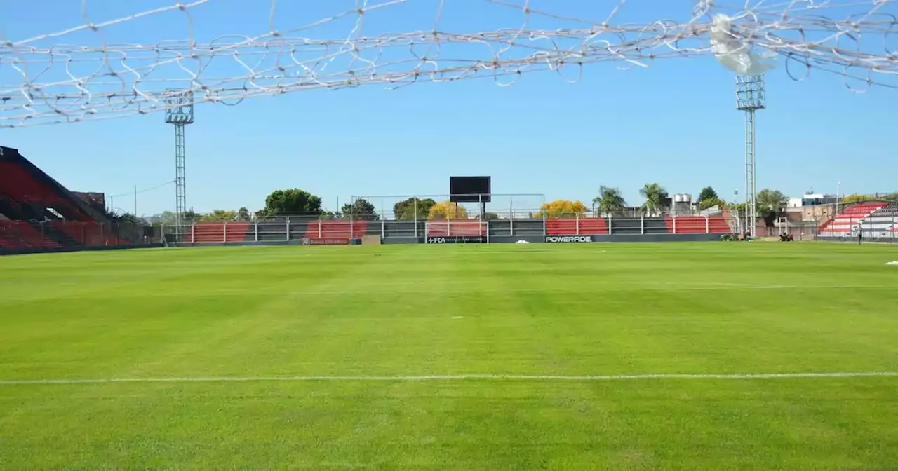
MULTIPOLYGON (((171 3, 88 1, 94 22, 171 3)), ((50 0, 37 12, 38 4, 16 1, 0 28, 13 40, 63 30, 80 22, 80 4, 50 0)), ((276 27, 289 29, 352 4, 280 0, 276 27)), ((384 8, 365 18, 366 31, 427 30, 437 4, 409 0, 384 8)), ((533 4, 601 21, 617 2, 533 4)), ((683 21, 691 6, 631 0, 615 20, 683 21)), ((191 11, 194 37, 268 31, 269 7, 260 0, 212 0, 191 11)), ((484 0, 456 0, 447 2, 441 28, 490 31, 518 26, 521 19, 521 13, 484 0)), ((308 35, 341 38, 351 28, 352 22, 332 22, 308 35)), ((186 38, 188 31, 184 15, 174 12, 110 27, 102 40, 151 43, 186 38)), ((100 40, 95 33, 69 36, 54 40, 100 40)), ((15 75, 0 70, 0 79, 7 84, 15 75)), ((758 188, 789 196, 811 189, 833 193, 837 182, 843 193, 898 189, 889 138, 898 92, 852 93, 840 77, 823 73, 797 83, 781 62, 768 74, 767 89, 769 109, 758 115, 758 188)), ((542 194, 587 205, 600 185, 619 187, 629 203, 638 204, 638 189, 655 181, 671 193, 697 195, 710 185, 732 197, 744 187, 743 124, 735 110, 734 77, 712 57, 657 61, 626 72, 593 65, 576 84, 537 73, 506 88, 489 80, 418 83, 395 91, 367 85, 245 100, 235 107, 200 105, 187 130, 188 205, 198 212, 255 210, 273 189, 298 187, 333 209, 338 199, 343 204, 351 196, 445 194, 448 177, 465 174, 491 175, 498 194, 542 194)), ((0 130, 0 144, 20 149, 67 188, 108 195, 172 180, 173 141, 172 126, 161 114, 0 130)), ((499 197, 496 205, 506 201, 499 197)), ((373 202, 392 206, 393 199, 373 202)), ((538 197, 520 197, 515 206, 538 203, 538 197)), ((115 205, 132 211, 133 199, 120 197, 115 205)), ((164 186, 141 193, 137 213, 173 205, 174 188, 164 186)))

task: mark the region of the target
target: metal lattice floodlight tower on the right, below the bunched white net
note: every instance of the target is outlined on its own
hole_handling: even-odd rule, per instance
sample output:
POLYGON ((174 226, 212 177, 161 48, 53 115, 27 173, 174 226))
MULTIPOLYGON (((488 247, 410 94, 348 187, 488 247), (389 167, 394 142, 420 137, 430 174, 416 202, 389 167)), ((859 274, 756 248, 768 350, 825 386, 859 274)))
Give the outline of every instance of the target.
POLYGON ((739 75, 735 78, 736 109, 745 112, 745 225, 752 237, 758 222, 756 187, 758 172, 755 162, 757 135, 754 127, 754 112, 767 108, 763 75, 739 75))

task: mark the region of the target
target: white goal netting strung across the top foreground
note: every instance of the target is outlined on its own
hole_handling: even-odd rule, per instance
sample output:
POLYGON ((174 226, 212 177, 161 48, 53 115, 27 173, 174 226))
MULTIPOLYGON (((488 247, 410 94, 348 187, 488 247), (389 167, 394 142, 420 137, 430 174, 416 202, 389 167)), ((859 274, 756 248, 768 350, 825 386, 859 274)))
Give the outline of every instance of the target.
POLYGON ((505 86, 547 70, 573 81, 585 65, 671 57, 715 56, 741 74, 779 60, 796 80, 819 69, 898 86, 898 0, 151 1, 7 2, 0 127, 153 113, 172 88, 234 104, 370 83, 505 86), (72 24, 43 24, 43 7, 72 9, 49 15, 72 24))

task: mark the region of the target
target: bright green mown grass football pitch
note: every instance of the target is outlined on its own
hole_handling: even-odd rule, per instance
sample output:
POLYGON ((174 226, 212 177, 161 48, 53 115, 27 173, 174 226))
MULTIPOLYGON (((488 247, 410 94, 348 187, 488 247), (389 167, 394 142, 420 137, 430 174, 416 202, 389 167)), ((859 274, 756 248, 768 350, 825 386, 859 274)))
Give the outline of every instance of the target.
POLYGON ((0 469, 895 469, 898 376, 800 376, 898 371, 891 260, 735 242, 0 257, 0 469), (765 373, 786 376, 707 376, 765 373))

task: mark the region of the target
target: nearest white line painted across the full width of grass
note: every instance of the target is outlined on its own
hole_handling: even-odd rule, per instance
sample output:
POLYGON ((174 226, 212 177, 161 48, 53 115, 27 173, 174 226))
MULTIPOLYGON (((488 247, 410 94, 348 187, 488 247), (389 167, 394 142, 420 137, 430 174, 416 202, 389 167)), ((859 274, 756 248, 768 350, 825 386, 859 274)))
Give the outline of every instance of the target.
POLYGON ((830 372, 830 373, 735 373, 735 374, 616 374, 593 376, 526 375, 526 374, 457 374, 422 376, 255 376, 255 377, 198 377, 198 378, 109 378, 109 379, 0 379, 0 386, 49 384, 106 384, 106 383, 202 383, 202 382, 263 382, 263 381, 454 381, 505 380, 524 381, 615 381, 626 379, 800 379, 800 378, 869 378, 898 377, 898 371, 830 372))

